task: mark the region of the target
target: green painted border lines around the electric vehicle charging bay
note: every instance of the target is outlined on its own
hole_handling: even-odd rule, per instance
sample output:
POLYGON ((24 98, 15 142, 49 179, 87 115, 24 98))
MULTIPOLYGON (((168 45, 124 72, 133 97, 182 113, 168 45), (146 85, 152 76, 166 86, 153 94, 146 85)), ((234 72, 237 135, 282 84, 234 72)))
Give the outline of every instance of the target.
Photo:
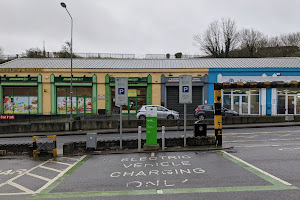
POLYGON ((84 197, 112 197, 112 196, 130 196, 130 195, 154 195, 154 194, 188 194, 188 193, 212 193, 212 192, 239 192, 239 191, 278 191, 278 190, 298 190, 297 187, 283 181, 271 174, 260 170, 237 157, 232 156, 224 151, 217 151, 218 154, 232 161, 233 163, 243 167, 254 175, 264 179, 272 185, 266 186, 238 186, 238 187, 210 187, 210 188, 178 188, 178 189, 149 189, 149 190, 122 190, 122 191, 90 191, 90 192, 65 192, 65 193, 50 193, 55 187, 57 187, 64 178, 73 173, 78 167, 80 167, 85 161, 78 163, 70 171, 64 174, 64 177, 57 180, 49 188, 46 188, 42 193, 30 196, 31 199, 40 198, 84 198, 84 197), (237 159, 236 159, 237 158, 237 159), (264 173, 263 173, 264 172, 264 173))

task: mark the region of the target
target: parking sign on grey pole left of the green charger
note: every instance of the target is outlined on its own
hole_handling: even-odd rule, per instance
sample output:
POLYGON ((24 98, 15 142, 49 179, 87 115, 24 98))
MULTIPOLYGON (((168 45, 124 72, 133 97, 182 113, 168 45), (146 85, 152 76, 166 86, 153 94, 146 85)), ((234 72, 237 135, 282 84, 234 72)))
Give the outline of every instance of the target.
POLYGON ((120 149, 122 149, 122 106, 128 106, 128 78, 116 78, 116 106, 120 106, 120 149))

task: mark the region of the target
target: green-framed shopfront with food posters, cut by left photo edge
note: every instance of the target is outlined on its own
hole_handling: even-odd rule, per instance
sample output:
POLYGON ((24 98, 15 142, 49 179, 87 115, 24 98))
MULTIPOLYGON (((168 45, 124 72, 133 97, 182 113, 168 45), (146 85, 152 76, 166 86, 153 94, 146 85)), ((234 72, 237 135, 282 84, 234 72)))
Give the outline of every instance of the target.
POLYGON ((42 75, 1 77, 1 114, 43 114, 42 75))

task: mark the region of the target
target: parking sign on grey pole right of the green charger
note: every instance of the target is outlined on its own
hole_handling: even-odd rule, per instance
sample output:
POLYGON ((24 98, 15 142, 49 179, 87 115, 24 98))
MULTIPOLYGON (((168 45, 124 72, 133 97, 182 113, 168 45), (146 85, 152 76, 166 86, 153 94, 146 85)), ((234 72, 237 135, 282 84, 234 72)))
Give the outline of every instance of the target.
POLYGON ((184 147, 186 146, 186 104, 192 103, 192 76, 179 76, 179 103, 184 104, 184 147))

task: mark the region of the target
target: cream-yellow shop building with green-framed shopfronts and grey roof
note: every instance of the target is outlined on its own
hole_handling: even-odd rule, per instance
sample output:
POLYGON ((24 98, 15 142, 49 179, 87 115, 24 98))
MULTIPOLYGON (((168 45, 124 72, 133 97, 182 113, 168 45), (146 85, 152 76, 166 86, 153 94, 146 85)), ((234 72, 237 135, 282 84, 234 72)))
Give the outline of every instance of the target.
MULTIPOLYGON (((200 59, 73 59, 72 74, 71 100, 70 59, 19 58, 1 64, 1 114, 66 115, 71 109, 78 115, 119 114, 116 77, 128 77, 129 81, 124 115, 135 115, 147 104, 176 105, 173 96, 178 96, 175 87, 179 83, 175 79, 180 75, 194 77, 195 107, 207 99, 204 76, 208 76, 208 68, 200 59)), ((193 109, 191 106, 190 111, 193 109)))

